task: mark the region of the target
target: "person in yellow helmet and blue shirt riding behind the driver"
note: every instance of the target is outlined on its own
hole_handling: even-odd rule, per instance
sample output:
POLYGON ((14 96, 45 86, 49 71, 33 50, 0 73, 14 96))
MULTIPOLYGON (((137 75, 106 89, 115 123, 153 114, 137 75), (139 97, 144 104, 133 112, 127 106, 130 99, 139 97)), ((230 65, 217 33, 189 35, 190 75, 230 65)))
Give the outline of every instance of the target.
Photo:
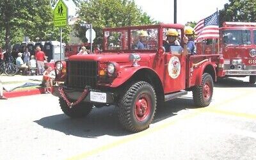
POLYGON ((194 35, 195 35, 195 31, 193 28, 191 28, 191 26, 186 26, 185 27, 185 35, 188 37, 188 52, 191 55, 196 54, 196 48, 195 48, 195 42, 194 42, 194 35))

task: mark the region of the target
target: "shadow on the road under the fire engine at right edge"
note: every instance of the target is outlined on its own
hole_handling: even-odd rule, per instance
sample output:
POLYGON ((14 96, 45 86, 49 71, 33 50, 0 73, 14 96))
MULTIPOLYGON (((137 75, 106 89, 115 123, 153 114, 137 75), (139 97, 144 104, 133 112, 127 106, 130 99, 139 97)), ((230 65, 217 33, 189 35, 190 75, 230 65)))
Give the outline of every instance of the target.
POLYGON ((217 83, 214 83, 214 87, 218 87, 218 88, 256 87, 256 84, 252 84, 239 79, 223 78, 223 79, 218 79, 217 83))

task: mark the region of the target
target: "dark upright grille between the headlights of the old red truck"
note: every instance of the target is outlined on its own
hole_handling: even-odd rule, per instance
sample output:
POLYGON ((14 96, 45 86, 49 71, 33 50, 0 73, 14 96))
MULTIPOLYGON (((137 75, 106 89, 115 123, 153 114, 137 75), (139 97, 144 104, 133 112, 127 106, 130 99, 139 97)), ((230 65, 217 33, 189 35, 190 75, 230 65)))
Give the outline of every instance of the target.
POLYGON ((95 87, 97 61, 67 61, 67 86, 70 88, 95 87))

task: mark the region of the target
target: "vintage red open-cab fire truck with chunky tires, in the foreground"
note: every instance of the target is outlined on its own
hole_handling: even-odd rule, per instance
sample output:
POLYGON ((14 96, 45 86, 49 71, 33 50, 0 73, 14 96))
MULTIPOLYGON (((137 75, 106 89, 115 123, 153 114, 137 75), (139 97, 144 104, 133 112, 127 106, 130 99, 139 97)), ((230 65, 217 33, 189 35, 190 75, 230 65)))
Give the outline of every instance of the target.
POLYGON ((93 54, 57 61, 56 81, 63 84, 53 86, 52 94, 59 97, 62 111, 77 118, 88 115, 93 106, 113 104, 120 124, 140 132, 149 127, 157 106, 189 91, 196 106, 208 106, 223 59, 219 54, 184 56, 180 46, 165 52, 168 29, 177 29, 182 40, 181 24, 105 28, 102 52, 95 49, 93 54), (139 33, 147 35, 144 49, 136 47, 139 33))

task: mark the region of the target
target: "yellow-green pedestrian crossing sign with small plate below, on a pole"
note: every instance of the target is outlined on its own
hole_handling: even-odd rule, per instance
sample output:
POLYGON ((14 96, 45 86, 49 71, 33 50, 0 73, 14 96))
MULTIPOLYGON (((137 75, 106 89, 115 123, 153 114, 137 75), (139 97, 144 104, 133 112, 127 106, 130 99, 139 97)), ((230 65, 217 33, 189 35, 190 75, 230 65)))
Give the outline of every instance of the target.
POLYGON ((53 12, 55 27, 64 27, 68 25, 68 8, 63 0, 58 1, 53 12))

